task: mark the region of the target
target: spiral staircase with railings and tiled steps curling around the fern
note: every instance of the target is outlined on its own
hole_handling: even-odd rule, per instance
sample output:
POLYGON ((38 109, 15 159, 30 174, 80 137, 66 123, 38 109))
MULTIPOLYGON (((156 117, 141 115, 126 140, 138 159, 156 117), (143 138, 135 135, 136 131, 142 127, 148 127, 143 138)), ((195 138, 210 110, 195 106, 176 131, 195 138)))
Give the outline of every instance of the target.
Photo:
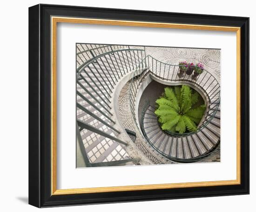
POLYGON ((204 70, 197 80, 179 78, 179 66, 173 64, 182 57, 169 53, 158 60, 151 56, 155 52, 144 46, 77 44, 77 167, 219 160, 219 72, 204 70), (187 84, 201 92, 207 110, 196 132, 161 130, 154 102, 141 103, 152 81, 187 84))

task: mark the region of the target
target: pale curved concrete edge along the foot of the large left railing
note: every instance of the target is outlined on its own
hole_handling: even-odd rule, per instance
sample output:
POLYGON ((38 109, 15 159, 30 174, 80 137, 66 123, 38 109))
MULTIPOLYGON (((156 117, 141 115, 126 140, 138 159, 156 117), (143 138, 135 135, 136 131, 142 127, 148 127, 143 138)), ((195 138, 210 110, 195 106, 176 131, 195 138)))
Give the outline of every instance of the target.
MULTIPOLYGON (((150 159, 148 159, 142 152, 141 150, 135 145, 135 143, 130 139, 128 134, 125 131, 125 128, 122 126, 121 119, 119 117, 118 113, 118 99, 119 95, 121 93, 121 90, 123 86, 132 78, 134 77, 135 71, 131 71, 130 73, 127 73, 124 75, 121 80, 115 85, 114 89, 112 90, 112 95, 110 98, 110 107, 111 110, 110 112, 113 114, 112 119, 115 120, 115 129, 117 129, 120 134, 118 134, 118 138, 121 139, 122 141, 126 142, 128 146, 125 147, 125 150, 127 151, 128 155, 139 161, 141 165, 152 165, 154 164, 150 159)), ((139 71, 140 73, 140 71, 139 71)))

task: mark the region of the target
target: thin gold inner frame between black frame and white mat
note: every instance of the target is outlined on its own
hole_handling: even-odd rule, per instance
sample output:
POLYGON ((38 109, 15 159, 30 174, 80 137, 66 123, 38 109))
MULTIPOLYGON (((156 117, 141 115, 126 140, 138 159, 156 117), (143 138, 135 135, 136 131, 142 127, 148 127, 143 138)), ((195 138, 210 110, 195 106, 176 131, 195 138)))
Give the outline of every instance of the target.
POLYGON ((102 20, 102 19, 85 19, 69 17, 51 17, 51 193, 52 195, 62 194, 81 194, 81 193, 98 193, 98 192, 121 192, 121 191, 139 191, 152 189, 169 189, 185 188, 197 186, 227 186, 238 185, 241 183, 241 106, 240 106, 240 56, 241 56, 241 28, 231 26, 207 26, 207 25, 190 25, 174 23, 157 23, 144 21, 127 21, 127 20, 102 20), (75 24, 100 24, 100 25, 119 25, 119 26, 141 26, 141 27, 162 27, 175 29, 194 29, 194 30, 211 30, 236 32, 236 179, 221 181, 205 182, 188 182, 188 183, 171 183, 171 184, 152 184, 139 186, 114 186, 114 187, 96 187, 96 188, 79 188, 79 189, 58 189, 57 190, 57 67, 56 67, 56 43, 57 43, 57 23, 75 23, 75 24))

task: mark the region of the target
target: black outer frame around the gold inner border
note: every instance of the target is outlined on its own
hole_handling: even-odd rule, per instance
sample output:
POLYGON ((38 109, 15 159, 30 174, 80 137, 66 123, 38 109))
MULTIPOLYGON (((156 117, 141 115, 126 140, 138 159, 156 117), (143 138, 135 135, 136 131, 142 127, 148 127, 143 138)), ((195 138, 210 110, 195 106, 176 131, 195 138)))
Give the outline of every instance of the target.
POLYGON ((52 207, 249 194, 249 18, 36 5, 29 8, 29 199, 52 207), (51 196, 51 16, 241 27, 241 184, 51 196))

